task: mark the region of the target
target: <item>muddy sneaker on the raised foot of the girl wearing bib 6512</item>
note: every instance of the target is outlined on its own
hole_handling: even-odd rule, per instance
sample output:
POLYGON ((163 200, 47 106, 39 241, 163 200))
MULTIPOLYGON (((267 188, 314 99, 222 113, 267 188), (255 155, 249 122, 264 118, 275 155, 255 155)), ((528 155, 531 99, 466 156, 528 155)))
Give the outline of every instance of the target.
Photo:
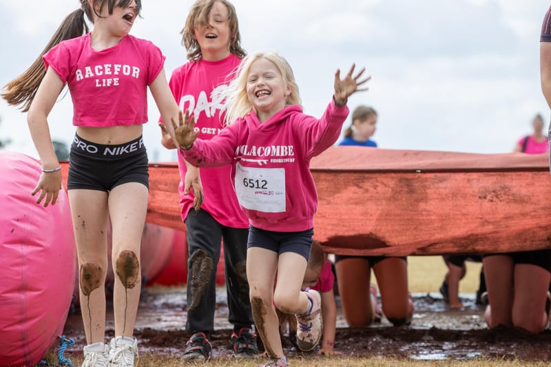
POLYGON ((297 319, 297 345, 307 352, 315 348, 322 338, 322 296, 318 291, 309 289, 306 295, 310 299, 310 311, 304 315, 295 315, 297 319))

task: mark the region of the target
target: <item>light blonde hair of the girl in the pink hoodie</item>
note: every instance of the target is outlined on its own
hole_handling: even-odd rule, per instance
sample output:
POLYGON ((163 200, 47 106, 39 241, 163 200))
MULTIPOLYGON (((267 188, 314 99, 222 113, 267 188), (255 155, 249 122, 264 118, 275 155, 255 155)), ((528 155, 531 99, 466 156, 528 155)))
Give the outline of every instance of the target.
POLYGON ((300 105, 300 95, 298 92, 298 85, 295 81, 295 75, 291 65, 280 56, 277 52, 262 52, 257 51, 245 56, 242 59, 239 67, 236 70, 236 78, 229 83, 229 87, 225 92, 225 125, 230 125, 238 118, 243 118, 251 112, 253 106, 247 96, 247 79, 249 78, 249 72, 251 71, 251 65, 258 59, 266 59, 271 61, 273 65, 280 72, 284 87, 289 88, 291 93, 285 100, 285 105, 300 105))

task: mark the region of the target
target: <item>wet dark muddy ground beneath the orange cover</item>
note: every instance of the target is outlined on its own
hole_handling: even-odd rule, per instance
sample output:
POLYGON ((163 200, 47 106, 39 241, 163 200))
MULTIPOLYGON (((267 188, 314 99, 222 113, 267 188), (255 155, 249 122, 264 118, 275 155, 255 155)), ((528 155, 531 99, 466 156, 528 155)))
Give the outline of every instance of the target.
MULTIPOLYGON (((335 349, 347 356, 402 357, 410 359, 472 359, 498 357, 551 361, 551 331, 530 335, 510 328, 489 331, 483 309, 474 295, 461 297, 464 308, 450 310, 439 294, 415 294, 415 315, 410 326, 393 327, 383 318, 381 324, 353 329, 346 326, 337 297, 339 315, 335 349)), ((211 333, 213 357, 229 357, 231 327, 227 322, 225 288, 217 291, 218 308, 211 333)), ((185 289, 180 287, 145 289, 138 309, 135 335, 140 353, 181 355, 189 335, 185 332, 185 289)), ((107 337, 113 336, 112 312, 107 314, 107 337)), ((67 353, 81 355, 85 344, 80 311, 70 315, 65 336, 76 344, 67 353)), ((288 355, 295 355, 291 342, 288 355)))

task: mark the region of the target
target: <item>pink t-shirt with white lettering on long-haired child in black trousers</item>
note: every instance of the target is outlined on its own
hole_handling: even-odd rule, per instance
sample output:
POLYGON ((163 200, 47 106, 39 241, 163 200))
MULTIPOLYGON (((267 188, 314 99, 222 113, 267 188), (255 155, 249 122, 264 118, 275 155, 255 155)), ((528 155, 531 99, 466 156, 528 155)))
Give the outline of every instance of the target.
MULTIPOLYGON (((222 132, 224 114, 220 109, 224 101, 220 94, 233 78, 232 72, 241 59, 230 54, 220 61, 189 61, 172 72, 169 85, 176 103, 185 112, 195 116, 195 126, 199 138, 210 140, 222 132)), ((180 169, 180 207, 183 220, 193 207, 194 196, 191 190, 184 195, 183 180, 187 171, 182 154, 178 154, 180 169)), ((201 209, 207 211, 218 223, 231 228, 249 228, 249 220, 242 211, 231 183, 231 165, 205 167, 200 169, 205 200, 201 209)))

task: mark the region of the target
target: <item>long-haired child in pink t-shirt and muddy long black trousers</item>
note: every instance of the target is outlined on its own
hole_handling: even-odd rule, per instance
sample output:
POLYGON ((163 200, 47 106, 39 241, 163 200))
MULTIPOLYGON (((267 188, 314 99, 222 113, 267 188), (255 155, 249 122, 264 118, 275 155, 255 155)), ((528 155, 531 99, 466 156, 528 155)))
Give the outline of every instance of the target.
MULTIPOLYGON (((223 130, 224 92, 245 56, 240 43, 236 9, 227 0, 196 0, 182 30, 182 43, 188 61, 172 72, 169 85, 182 111, 189 110, 196 120, 200 138, 210 140, 223 130)), ((176 149, 168 134, 169 121, 160 123, 162 143, 176 149)), ((180 209, 187 229, 187 319, 190 338, 185 346, 185 361, 211 357, 209 342, 214 331, 216 282, 221 245, 228 293, 228 321, 232 324, 231 348, 238 358, 258 357, 256 333, 245 273, 249 220, 241 210, 231 183, 231 167, 200 169, 200 182, 186 182, 187 165, 178 154, 180 171, 180 209), (201 191, 205 193, 204 200, 201 191), (195 209, 195 210, 192 210, 195 209)))

